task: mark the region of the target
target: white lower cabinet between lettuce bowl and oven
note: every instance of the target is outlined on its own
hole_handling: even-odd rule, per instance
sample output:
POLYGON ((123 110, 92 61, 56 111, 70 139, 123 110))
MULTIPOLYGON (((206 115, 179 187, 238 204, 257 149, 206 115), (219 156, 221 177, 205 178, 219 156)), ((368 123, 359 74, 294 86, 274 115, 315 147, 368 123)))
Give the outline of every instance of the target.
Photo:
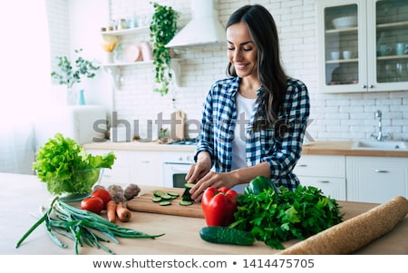
MULTIPOLYGON (((107 150, 87 149, 91 154, 105 154, 107 150)), ((102 182, 108 184, 163 185, 163 163, 160 151, 113 151, 116 160, 112 169, 103 171, 102 182)))

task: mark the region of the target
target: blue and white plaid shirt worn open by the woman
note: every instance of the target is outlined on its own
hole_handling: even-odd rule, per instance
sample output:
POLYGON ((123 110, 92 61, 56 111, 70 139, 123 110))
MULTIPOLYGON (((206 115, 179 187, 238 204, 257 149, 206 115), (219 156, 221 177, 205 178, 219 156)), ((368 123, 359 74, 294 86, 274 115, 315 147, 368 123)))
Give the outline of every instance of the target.
MULTIPOLYGON (((228 78, 214 83, 204 102, 201 133, 196 149, 209 151, 212 164, 217 172, 231 171, 232 141, 237 124, 238 112, 236 94, 239 78, 228 78)), ((260 87, 257 93, 265 92, 260 87)), ((254 107, 257 112, 258 104, 254 107)), ((310 105, 306 85, 296 79, 287 80, 287 93, 283 111, 279 112, 280 133, 275 129, 257 132, 246 131, 247 166, 266 161, 271 171, 271 180, 277 186, 294 190, 299 180, 292 172, 302 151, 306 122, 310 105)), ((254 114, 249 121, 254 121, 254 114)))

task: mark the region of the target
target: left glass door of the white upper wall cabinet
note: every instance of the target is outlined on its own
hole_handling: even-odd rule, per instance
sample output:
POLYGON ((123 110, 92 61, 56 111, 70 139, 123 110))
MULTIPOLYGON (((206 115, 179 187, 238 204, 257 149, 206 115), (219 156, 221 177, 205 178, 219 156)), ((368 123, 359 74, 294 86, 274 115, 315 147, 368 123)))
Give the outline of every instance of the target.
POLYGON ((322 92, 366 91, 366 2, 318 1, 322 92))

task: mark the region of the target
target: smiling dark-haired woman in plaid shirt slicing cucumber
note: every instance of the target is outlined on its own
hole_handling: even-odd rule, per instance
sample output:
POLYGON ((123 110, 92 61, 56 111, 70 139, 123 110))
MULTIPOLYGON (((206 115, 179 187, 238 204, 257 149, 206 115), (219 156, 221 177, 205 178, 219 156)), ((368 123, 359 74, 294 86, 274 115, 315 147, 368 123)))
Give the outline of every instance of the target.
POLYGON ((226 30, 228 78, 214 83, 204 102, 196 163, 186 176, 196 183, 191 197, 201 200, 210 186, 242 192, 259 175, 294 190, 310 108, 306 85, 284 72, 265 7, 239 8, 226 30))

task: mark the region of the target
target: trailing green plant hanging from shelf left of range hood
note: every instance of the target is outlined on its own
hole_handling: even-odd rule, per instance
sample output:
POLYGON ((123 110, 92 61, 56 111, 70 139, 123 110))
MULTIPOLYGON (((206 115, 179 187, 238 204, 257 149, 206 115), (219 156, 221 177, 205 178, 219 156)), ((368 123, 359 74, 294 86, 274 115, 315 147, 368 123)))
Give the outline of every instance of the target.
POLYGON ((152 4, 154 13, 151 17, 151 44, 153 46, 154 65, 154 92, 165 95, 169 93, 172 80, 170 70, 170 49, 166 44, 174 37, 177 31, 178 14, 171 6, 152 4))

